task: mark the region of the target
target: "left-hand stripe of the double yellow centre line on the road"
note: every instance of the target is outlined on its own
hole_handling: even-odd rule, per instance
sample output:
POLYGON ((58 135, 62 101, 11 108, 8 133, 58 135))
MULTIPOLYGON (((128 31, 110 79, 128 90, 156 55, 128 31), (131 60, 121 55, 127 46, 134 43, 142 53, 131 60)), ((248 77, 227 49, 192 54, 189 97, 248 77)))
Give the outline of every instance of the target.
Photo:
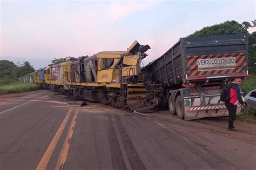
POLYGON ((64 118, 62 124, 59 126, 58 131, 56 132, 55 136, 53 137, 50 145, 48 146, 48 148, 46 149, 41 161, 39 162, 39 164, 37 165, 36 169, 45 169, 50 158, 52 155, 53 150, 55 149, 57 142, 60 138, 60 135, 62 134, 66 124, 68 123, 69 117, 72 113, 73 108, 70 108, 68 114, 66 114, 66 117, 64 118))

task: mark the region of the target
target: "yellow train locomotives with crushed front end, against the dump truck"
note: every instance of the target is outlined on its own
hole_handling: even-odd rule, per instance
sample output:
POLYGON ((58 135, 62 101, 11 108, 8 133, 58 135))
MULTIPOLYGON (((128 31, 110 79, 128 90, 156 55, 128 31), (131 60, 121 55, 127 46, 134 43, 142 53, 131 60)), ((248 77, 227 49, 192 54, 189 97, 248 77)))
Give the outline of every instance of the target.
MULTIPOLYGON (((150 92, 150 75, 140 69, 149 49, 149 45, 140 45, 135 40, 126 51, 104 51, 50 65, 35 72, 35 83, 44 89, 132 111, 158 105, 160 99, 150 92)), ((161 88, 158 84, 154 86, 161 88)))

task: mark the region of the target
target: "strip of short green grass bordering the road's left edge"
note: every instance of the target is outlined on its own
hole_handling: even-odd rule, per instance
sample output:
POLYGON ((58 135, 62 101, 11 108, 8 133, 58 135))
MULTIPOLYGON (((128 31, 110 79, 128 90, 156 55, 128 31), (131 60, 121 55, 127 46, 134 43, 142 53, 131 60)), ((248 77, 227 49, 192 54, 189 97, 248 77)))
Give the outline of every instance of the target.
POLYGON ((34 91, 40 89, 37 84, 24 84, 21 82, 15 82, 11 84, 5 84, 0 86, 0 95, 2 94, 11 94, 11 93, 19 93, 19 92, 27 92, 34 91))

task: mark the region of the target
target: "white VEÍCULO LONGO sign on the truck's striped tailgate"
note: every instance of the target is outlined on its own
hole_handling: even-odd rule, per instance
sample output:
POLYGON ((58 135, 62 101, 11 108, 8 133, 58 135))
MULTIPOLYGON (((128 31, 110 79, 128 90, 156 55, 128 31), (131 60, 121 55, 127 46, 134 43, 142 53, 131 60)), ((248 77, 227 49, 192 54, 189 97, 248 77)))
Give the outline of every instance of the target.
POLYGON ((235 57, 197 60, 198 71, 235 69, 235 57))

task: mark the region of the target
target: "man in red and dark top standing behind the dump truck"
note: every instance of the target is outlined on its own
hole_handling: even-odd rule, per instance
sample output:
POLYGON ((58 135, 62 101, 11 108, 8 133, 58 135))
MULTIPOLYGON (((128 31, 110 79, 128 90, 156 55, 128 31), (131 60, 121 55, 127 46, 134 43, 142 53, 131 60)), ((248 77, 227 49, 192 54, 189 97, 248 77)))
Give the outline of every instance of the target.
POLYGON ((232 81, 232 86, 230 89, 230 101, 225 103, 225 106, 227 107, 228 110, 228 131, 237 131, 234 129, 234 120, 235 120, 235 113, 237 113, 237 104, 240 103, 245 107, 245 103, 242 100, 241 97, 241 92, 240 92, 240 84, 241 84, 241 79, 240 78, 235 78, 232 81))

